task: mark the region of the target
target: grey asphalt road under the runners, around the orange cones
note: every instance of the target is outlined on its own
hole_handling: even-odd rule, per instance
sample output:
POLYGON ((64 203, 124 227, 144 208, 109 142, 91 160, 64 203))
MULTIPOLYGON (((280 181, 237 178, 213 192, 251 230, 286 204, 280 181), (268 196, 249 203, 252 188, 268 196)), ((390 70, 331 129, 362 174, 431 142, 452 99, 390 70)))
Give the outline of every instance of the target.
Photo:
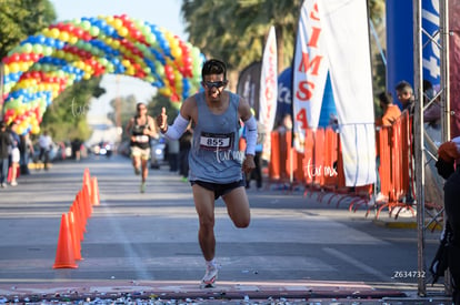
MULTIPOLYGON (((59 281, 186 281, 199 283, 204 263, 197 240, 191 187, 167 166, 149 170, 147 192, 130 161, 90 156, 54 163, 0 190, 0 283, 59 281), (100 205, 87 223, 78 268, 52 268, 60 222, 82 187, 84 169, 98 179, 100 205)), ((271 185, 273 186, 273 185, 271 185)), ((302 190, 248 190, 251 225, 239 230, 216 203, 219 279, 230 283, 321 281, 417 291, 417 231, 306 199, 302 190), (416 273, 414 273, 416 272, 416 273)), ((416 222, 400 218, 398 222, 416 222)), ((427 232, 430 264, 440 232, 427 232)), ((442 282, 442 279, 441 279, 442 282)), ((442 291, 441 285, 428 293, 442 291)))

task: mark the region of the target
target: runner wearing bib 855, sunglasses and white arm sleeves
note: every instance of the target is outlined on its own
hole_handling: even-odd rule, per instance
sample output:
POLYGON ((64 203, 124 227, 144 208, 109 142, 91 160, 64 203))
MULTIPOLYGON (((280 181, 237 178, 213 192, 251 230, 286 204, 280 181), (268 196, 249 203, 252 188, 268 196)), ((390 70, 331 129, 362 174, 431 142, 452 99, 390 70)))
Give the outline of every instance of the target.
POLYGON ((179 139, 192 121, 189 181, 199 217, 198 240, 207 266, 201 287, 212 287, 218 276, 214 201, 222 196, 233 224, 240 228, 249 226, 250 209, 242 172, 248 174, 256 167, 257 122, 249 103, 224 90, 228 83, 224 62, 206 61, 201 78, 204 91, 182 103, 173 124, 168 125, 164 108, 157 123, 167 138, 179 139), (246 155, 238 150, 240 120, 248 128, 246 155))

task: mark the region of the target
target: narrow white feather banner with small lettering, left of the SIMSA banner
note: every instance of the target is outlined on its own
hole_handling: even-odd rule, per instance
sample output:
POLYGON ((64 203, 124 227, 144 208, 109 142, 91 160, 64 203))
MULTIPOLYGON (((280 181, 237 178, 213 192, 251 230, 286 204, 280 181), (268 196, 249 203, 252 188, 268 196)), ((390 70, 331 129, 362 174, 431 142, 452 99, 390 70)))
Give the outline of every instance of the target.
MULTIPOLYGON (((259 122, 266 129, 266 134, 273 130, 278 102, 278 51, 274 27, 270 27, 263 50, 262 70, 260 77, 259 122)), ((262 159, 270 161, 271 136, 263 142, 262 159)))

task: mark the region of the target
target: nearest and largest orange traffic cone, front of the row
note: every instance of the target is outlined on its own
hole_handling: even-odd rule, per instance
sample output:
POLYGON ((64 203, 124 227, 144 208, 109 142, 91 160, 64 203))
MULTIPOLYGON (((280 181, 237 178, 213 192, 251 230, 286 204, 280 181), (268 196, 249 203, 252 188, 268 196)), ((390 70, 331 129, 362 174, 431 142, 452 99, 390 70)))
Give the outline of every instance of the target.
POLYGON ((69 220, 67 214, 62 214, 61 228, 59 232, 58 248, 53 268, 78 268, 76 264, 72 237, 70 235, 69 220))

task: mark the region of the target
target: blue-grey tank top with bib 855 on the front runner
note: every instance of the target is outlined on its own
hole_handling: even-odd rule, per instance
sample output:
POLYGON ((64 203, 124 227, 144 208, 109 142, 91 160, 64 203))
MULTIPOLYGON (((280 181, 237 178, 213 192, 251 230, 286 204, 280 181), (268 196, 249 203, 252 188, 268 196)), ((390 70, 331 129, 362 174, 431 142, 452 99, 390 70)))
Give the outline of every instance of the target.
POLYGON ((198 123, 193 129, 192 148, 189 154, 190 181, 232 183, 242 179, 243 153, 239 142, 239 96, 229 92, 230 103, 222 114, 213 114, 206 101, 204 92, 196 94, 198 123))

